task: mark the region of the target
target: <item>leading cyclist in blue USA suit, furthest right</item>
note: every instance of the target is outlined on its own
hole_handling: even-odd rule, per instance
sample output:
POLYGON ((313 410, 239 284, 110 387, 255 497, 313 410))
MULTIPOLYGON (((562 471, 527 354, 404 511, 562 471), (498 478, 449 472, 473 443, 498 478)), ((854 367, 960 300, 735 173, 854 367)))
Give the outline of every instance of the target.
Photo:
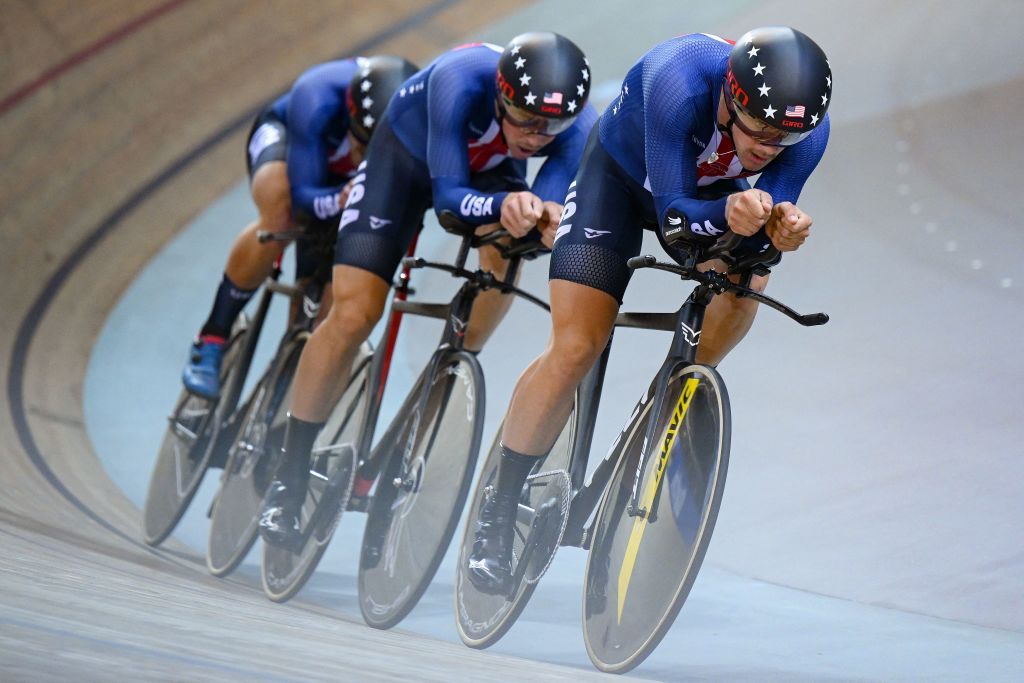
MULTIPOLYGON (((674 38, 626 75, 566 197, 551 256, 551 340, 513 393, 496 492, 481 509, 466 567, 478 590, 511 588, 520 490, 607 344, 641 228, 659 228, 659 241, 673 251, 741 238, 725 255, 733 259, 771 245, 798 249, 811 217, 796 202, 824 153, 830 97, 824 52, 782 27, 755 29, 734 45, 706 34, 674 38), (757 173, 752 188, 743 178, 757 173)), ((726 263, 701 267, 723 271, 726 263)), ((754 276, 752 287, 763 291, 767 280, 754 276)), ((697 361, 721 361, 756 308, 750 299, 715 297, 697 361)))

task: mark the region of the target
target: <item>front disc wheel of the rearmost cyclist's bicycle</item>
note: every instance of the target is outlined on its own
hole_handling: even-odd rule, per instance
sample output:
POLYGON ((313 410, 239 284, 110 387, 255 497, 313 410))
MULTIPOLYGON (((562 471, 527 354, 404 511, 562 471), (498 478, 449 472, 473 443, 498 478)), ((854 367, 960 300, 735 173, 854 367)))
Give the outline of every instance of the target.
POLYGON ((226 577, 245 559, 259 531, 260 504, 285 439, 292 380, 307 334, 288 343, 260 380, 228 452, 210 514, 206 566, 226 577))

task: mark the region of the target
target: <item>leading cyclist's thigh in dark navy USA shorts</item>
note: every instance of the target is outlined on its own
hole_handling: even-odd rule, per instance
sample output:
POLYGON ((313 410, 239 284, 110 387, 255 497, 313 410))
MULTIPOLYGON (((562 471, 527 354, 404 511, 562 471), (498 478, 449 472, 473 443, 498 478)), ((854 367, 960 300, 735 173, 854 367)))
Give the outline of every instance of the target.
POLYGON ((625 172, 601 147, 595 127, 569 185, 551 252, 551 280, 591 287, 622 302, 640 253, 644 207, 625 172))

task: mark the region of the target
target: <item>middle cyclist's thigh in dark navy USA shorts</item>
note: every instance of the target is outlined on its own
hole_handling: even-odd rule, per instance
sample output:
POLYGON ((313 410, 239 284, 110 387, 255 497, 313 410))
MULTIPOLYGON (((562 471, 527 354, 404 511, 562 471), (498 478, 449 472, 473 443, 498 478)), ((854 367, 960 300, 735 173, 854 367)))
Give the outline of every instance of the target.
POLYGON ((390 284, 430 206, 430 173, 382 121, 359 165, 338 224, 334 262, 390 284))

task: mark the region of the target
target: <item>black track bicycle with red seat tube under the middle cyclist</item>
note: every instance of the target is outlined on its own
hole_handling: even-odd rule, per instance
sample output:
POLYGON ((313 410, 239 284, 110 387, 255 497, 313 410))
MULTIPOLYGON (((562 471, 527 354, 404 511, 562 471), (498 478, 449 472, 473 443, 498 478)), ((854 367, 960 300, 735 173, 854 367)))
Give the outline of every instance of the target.
MULTIPOLYGON (((359 605, 367 623, 382 629, 401 621, 429 585, 455 532, 475 469, 483 423, 483 376, 476 356, 463 348, 474 300, 484 290, 500 289, 546 305, 511 284, 520 259, 540 253, 539 245, 506 246, 505 230, 476 236, 472 226, 446 212, 440 222, 462 238, 454 265, 407 257, 403 267, 441 269, 465 280, 463 286, 449 303, 396 299, 391 305, 392 314, 444 319, 440 343, 377 443, 373 443, 376 415, 368 412, 350 444, 359 480, 376 482, 358 504, 347 507, 368 513, 358 569, 359 605), (465 268, 470 250, 484 245, 494 245, 510 259, 504 281, 465 268)), ((376 386, 380 365, 383 358, 375 355, 364 371, 372 396, 380 393, 376 386)), ((308 519, 303 509, 297 548, 264 544, 264 590, 271 599, 291 597, 296 586, 308 579, 330 539, 316 529, 333 529, 346 508, 351 481, 317 476, 316 460, 310 489, 322 490, 308 519), (312 555, 312 561, 303 560, 312 555)))

